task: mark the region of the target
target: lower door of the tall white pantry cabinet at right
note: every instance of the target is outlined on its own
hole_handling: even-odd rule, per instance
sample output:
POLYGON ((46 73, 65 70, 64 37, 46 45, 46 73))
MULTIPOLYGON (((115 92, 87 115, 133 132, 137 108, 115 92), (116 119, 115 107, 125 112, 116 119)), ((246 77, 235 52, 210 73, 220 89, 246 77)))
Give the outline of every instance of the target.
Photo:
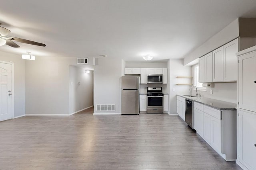
POLYGON ((239 110, 239 161, 256 169, 256 115, 239 110))

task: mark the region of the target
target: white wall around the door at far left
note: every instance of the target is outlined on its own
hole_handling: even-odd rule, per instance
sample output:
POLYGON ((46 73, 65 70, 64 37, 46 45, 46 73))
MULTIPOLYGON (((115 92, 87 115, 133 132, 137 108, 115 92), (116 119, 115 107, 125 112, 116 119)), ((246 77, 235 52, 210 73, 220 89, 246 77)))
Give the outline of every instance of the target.
POLYGON ((0 61, 14 63, 14 117, 25 114, 25 60, 21 55, 0 51, 0 61))

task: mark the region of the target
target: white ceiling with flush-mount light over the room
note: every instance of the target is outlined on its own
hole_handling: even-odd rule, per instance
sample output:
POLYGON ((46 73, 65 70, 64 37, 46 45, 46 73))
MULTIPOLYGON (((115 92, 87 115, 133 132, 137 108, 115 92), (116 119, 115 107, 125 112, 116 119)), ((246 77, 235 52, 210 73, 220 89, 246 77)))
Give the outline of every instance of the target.
POLYGON ((256 0, 5 0, 1 26, 17 43, 0 51, 52 57, 179 59, 238 17, 256 17, 256 0))

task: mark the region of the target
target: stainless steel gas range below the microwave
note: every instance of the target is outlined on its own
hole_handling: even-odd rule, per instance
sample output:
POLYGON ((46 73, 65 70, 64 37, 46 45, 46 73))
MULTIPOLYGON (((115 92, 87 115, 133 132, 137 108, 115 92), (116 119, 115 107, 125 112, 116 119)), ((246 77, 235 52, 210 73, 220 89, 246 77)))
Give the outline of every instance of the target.
POLYGON ((147 113, 163 113, 162 87, 147 87, 147 113))

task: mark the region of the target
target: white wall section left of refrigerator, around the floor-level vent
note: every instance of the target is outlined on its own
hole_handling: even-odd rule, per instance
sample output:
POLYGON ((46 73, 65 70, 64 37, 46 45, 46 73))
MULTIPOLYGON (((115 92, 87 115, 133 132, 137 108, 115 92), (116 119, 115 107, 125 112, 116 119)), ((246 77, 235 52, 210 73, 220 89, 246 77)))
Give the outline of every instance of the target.
POLYGON ((99 58, 94 67, 94 113, 121 113, 122 59, 99 58), (116 111, 96 111, 97 104, 116 104, 116 111))

